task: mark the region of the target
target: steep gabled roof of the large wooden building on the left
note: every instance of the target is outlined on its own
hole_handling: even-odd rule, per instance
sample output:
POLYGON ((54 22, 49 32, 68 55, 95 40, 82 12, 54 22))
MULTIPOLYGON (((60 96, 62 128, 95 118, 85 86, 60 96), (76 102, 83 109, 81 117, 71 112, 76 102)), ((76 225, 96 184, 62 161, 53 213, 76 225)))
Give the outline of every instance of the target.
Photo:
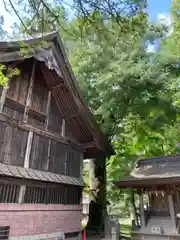
POLYGON ((25 58, 31 57, 35 57, 38 61, 43 62, 44 66, 46 65, 46 68, 48 67, 49 70, 52 70, 47 72, 44 68, 43 72, 48 81, 49 79, 53 79, 49 84, 52 88, 53 96, 57 101, 58 99, 60 101, 60 98, 62 100, 62 96, 67 98, 67 94, 69 94, 67 105, 69 105, 70 108, 68 108, 68 111, 66 111, 65 107, 63 109, 63 106, 60 106, 60 104, 58 104, 58 106, 60 111, 64 112, 67 117, 67 121, 69 119, 70 124, 74 124, 81 134, 81 143, 86 149, 85 157, 95 157, 100 153, 105 155, 114 154, 107 138, 95 122, 90 109, 84 102, 59 34, 57 32, 51 32, 43 36, 36 36, 32 38, 0 41, 1 63, 21 61, 25 58), (21 42, 30 46, 38 46, 41 41, 48 42, 48 47, 37 47, 35 51, 27 52, 24 56, 21 54, 21 42), (51 75, 48 75, 50 72, 51 75), (68 93, 63 92, 62 86, 66 87, 68 93))

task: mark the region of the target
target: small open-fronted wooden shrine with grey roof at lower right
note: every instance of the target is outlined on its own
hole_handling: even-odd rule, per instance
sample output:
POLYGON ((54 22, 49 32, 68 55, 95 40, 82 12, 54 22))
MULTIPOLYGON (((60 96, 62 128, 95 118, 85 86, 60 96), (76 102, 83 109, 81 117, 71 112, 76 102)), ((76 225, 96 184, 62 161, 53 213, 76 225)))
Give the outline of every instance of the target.
POLYGON ((133 240, 180 239, 180 155, 140 160, 115 185, 139 195, 133 240))

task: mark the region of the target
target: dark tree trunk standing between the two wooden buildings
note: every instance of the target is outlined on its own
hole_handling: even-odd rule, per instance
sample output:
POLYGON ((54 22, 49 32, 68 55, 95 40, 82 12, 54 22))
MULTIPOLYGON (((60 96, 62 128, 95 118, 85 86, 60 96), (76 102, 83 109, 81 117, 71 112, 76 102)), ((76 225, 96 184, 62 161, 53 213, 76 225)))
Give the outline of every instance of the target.
POLYGON ((90 163, 91 168, 94 166, 93 170, 90 170, 90 186, 95 194, 94 198, 91 198, 89 205, 89 221, 87 225, 87 231, 102 234, 105 232, 105 216, 107 215, 106 208, 106 157, 98 157, 94 160, 94 164, 90 163), (92 177, 95 175, 95 179, 92 177), (94 182, 98 184, 94 184, 94 182))

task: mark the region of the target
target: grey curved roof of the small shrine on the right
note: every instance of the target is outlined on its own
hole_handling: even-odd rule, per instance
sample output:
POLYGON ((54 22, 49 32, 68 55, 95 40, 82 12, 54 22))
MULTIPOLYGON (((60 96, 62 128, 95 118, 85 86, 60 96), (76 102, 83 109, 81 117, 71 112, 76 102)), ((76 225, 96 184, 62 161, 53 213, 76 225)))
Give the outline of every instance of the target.
POLYGON ((150 188, 180 183, 180 155, 139 160, 130 176, 114 184, 119 188, 150 188))

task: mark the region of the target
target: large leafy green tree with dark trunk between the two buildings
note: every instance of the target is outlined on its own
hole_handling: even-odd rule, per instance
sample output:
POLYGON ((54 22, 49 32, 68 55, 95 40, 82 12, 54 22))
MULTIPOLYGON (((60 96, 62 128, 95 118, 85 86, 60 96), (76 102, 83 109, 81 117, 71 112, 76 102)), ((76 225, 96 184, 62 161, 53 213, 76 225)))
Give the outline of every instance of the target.
MULTIPOLYGON (((176 151, 178 141, 173 128, 178 104, 173 105, 177 97, 170 84, 174 75, 169 64, 145 50, 148 40, 163 36, 162 29, 148 23, 142 7, 136 10, 107 19, 102 11, 91 11, 66 22, 66 31, 73 34, 61 34, 84 96, 117 153, 109 161, 104 156, 95 161, 99 185, 89 228, 98 231, 106 215, 106 166, 108 180, 115 180, 128 174, 139 157, 176 151)), ((51 17, 46 17, 48 30, 51 17)), ((39 18, 35 22, 35 32, 41 31, 39 18)), ((108 185, 111 201, 118 194, 108 185)))

